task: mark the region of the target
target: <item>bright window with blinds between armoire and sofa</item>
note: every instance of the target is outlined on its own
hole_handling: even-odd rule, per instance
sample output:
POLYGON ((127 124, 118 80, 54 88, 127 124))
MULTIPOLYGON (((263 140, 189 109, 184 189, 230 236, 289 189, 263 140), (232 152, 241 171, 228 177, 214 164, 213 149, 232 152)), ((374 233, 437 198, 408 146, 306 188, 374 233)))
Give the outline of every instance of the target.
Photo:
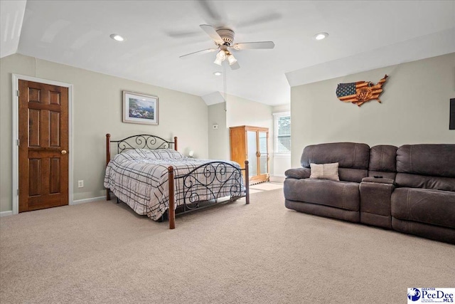
POLYGON ((273 120, 275 154, 291 154, 291 114, 274 113, 273 120))

